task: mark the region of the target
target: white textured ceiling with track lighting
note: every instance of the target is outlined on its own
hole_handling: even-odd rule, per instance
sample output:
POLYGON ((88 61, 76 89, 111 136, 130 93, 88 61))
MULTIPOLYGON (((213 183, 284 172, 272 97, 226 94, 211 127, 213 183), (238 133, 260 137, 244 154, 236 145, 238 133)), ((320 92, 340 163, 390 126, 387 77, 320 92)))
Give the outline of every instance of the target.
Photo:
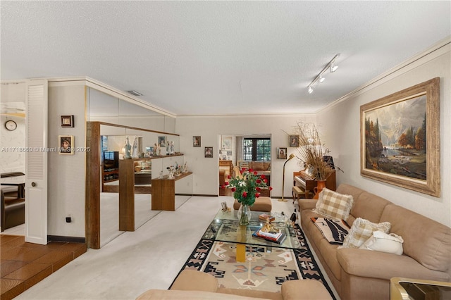
POLYGON ((449 37, 450 4, 2 0, 1 80, 92 77, 175 115, 314 113, 449 37))

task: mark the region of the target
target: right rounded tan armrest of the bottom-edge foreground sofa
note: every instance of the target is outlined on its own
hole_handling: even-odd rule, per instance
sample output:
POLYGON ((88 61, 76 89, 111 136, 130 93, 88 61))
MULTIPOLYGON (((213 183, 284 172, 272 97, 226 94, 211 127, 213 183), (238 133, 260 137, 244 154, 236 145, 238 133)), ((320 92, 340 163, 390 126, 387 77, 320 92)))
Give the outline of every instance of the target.
POLYGON ((280 287, 283 300, 326 300, 332 299, 328 290, 319 280, 289 280, 280 287))

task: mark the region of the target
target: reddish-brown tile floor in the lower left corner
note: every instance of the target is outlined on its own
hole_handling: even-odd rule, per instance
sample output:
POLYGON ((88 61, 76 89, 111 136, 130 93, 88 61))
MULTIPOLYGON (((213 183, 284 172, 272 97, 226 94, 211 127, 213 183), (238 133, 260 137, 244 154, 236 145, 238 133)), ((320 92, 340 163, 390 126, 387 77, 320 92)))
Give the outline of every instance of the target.
POLYGON ((19 235, 0 235, 1 300, 13 299, 87 250, 86 244, 25 242, 19 235))

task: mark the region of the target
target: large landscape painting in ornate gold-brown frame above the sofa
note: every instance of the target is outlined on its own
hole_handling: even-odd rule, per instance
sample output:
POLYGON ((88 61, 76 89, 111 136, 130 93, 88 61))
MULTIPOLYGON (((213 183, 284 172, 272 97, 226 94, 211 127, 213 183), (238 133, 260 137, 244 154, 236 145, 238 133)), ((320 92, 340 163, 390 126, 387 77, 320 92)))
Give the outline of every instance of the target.
POLYGON ((361 175, 440 196, 440 78, 360 106, 361 175))

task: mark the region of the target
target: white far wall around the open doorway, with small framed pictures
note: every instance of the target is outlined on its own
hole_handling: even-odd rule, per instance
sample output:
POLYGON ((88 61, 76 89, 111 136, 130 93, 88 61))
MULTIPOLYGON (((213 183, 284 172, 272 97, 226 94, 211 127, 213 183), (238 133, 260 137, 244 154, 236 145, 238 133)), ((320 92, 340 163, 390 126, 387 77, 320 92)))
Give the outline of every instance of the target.
MULTIPOLYGON (((193 174, 193 193, 218 195, 218 146, 221 135, 271 135, 271 196, 282 196, 283 163, 277 159, 278 147, 287 147, 288 155, 295 148, 288 146, 288 135, 298 121, 316 121, 315 115, 247 115, 247 116, 212 116, 212 117, 178 117, 176 132, 180 135, 180 150, 185 154, 185 161, 193 174), (285 131, 285 132, 283 132, 285 131), (201 146, 192 146, 192 137, 201 137, 201 146), (205 158, 206 146, 213 147, 213 158, 205 158)), ((327 141, 323 141, 326 142, 327 141)), ((332 154, 333 155, 333 154, 332 154)), ((285 193, 291 196, 292 173, 299 171, 297 161, 285 166, 285 193)))

